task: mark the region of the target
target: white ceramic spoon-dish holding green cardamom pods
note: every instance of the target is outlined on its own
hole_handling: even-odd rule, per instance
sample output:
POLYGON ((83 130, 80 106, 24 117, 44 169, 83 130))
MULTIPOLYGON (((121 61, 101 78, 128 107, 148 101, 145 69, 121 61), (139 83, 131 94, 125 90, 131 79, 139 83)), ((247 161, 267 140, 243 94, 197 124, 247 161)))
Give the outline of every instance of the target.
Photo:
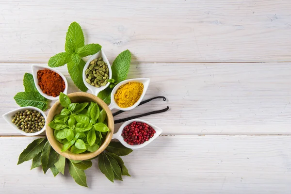
POLYGON ((88 66, 90 65, 90 62, 93 61, 94 59, 97 59, 99 57, 102 57, 103 61, 107 64, 108 66, 108 70, 109 70, 109 79, 112 78, 112 70, 111 70, 111 65, 104 53, 104 51, 101 49, 99 52, 97 52, 95 55, 93 55, 86 63, 86 65, 84 66, 83 68, 83 82, 85 84, 85 86, 92 91, 92 94, 94 94, 95 96, 98 95, 99 92, 101 92, 102 90, 105 90, 105 88, 107 88, 109 86, 109 82, 105 85, 105 86, 101 86, 99 88, 95 87, 95 86, 92 86, 90 85, 89 83, 87 83, 86 81, 86 74, 85 74, 85 71, 86 69, 88 68, 88 66))

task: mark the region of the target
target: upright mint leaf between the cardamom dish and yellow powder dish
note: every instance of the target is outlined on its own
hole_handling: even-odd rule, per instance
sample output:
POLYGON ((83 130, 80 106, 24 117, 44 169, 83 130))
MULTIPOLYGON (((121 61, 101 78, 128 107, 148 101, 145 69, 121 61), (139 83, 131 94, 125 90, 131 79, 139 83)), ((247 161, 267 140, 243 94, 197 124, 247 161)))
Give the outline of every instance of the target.
POLYGON ((121 52, 112 64, 112 79, 117 82, 124 81, 129 73, 131 54, 129 50, 121 52))

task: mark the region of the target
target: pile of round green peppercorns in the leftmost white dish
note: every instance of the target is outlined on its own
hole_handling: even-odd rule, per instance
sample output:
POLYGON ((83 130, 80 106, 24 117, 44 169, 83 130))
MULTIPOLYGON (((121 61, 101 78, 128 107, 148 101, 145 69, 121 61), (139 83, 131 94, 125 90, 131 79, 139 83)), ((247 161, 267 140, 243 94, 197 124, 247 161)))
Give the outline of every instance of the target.
POLYGON ((14 123, 18 129, 26 133, 34 133, 43 129, 46 121, 41 113, 33 110, 26 110, 16 113, 12 117, 12 123, 14 123))

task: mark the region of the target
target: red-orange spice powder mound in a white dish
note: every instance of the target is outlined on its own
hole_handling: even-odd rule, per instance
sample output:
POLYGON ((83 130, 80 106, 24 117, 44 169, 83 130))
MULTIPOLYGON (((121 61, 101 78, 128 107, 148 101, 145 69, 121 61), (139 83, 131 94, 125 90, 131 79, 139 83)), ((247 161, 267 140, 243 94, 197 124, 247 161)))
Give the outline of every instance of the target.
POLYGON ((65 90, 65 81, 54 71, 49 69, 37 71, 38 85, 43 93, 57 97, 65 90))

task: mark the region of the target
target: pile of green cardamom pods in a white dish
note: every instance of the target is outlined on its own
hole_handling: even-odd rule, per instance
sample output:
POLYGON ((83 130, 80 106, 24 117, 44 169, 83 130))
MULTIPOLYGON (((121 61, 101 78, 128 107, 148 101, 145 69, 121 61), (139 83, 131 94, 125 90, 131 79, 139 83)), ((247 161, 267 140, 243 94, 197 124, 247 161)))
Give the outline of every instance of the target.
POLYGON ((91 61, 85 74, 87 83, 97 88, 105 86, 109 80, 108 65, 102 60, 102 57, 91 61))

